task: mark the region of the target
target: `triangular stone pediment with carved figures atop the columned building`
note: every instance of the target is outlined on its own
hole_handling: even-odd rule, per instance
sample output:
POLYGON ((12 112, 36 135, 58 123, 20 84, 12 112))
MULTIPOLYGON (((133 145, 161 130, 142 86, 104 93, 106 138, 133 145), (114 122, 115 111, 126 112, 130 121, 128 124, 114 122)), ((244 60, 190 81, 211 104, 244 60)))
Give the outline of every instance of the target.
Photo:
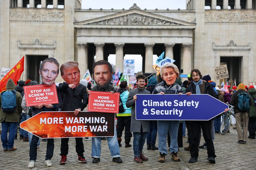
POLYGON ((153 14, 151 12, 146 12, 133 8, 125 12, 119 12, 112 15, 107 15, 104 17, 99 17, 95 19, 85 20, 81 22, 76 22, 75 27, 192 27, 195 28, 195 24, 173 19, 170 17, 165 17, 162 15, 153 14))

